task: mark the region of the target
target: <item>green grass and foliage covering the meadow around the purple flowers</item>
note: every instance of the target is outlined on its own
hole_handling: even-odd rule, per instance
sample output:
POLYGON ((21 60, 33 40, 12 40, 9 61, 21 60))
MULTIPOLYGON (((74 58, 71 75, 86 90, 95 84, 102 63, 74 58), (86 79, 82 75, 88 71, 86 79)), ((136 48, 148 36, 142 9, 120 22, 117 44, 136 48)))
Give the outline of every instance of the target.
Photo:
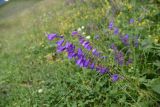
MULTIPOLYGON (((159 38, 158 33, 153 33, 154 26, 159 24, 145 19, 147 15, 158 13, 156 4, 143 5, 148 9, 147 13, 136 10, 141 2, 126 0, 123 4, 126 5, 121 7, 122 12, 114 17, 123 32, 140 32, 145 35, 144 43, 148 35, 152 35, 148 44, 159 38), (128 12, 129 4, 133 10, 128 12), (133 11, 136 12, 130 14, 133 11), (126 24, 130 17, 139 15, 144 16, 141 26, 126 24)), ((46 33, 59 33, 75 42, 70 33, 81 26, 85 26, 84 32, 91 36, 96 48, 108 52, 107 44, 117 39, 105 38, 108 20, 112 18, 111 14, 106 17, 107 10, 110 10, 110 4, 96 0, 70 5, 63 0, 15 0, 0 7, 0 106, 158 107, 159 74, 152 63, 159 56, 158 49, 152 53, 152 45, 135 51, 137 62, 119 72, 125 74, 127 80, 116 83, 112 83, 107 75, 77 67, 73 61, 68 61, 66 55, 52 55, 56 52, 55 43, 47 41, 46 33), (95 41, 95 34, 99 34, 102 40, 95 41), (139 54, 145 59, 139 59, 139 54)))

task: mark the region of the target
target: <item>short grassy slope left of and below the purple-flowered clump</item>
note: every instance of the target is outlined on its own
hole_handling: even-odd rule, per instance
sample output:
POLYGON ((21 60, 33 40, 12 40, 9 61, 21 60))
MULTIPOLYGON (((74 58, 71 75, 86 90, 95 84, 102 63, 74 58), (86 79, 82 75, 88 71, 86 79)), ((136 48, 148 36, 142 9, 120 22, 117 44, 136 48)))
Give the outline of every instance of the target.
POLYGON ((16 4, 16 8, 25 7, 22 2, 19 5, 18 0, 13 1, 0 11, 3 18, 6 18, 0 20, 0 106, 74 106, 77 103, 79 106, 88 103, 95 106, 117 106, 117 96, 120 97, 118 103, 122 102, 127 106, 137 106, 135 100, 138 98, 142 105, 146 104, 143 102, 146 100, 152 103, 152 92, 140 89, 138 79, 132 81, 133 86, 117 92, 114 87, 118 89, 118 83, 113 84, 113 87, 112 84, 111 87, 107 86, 106 83, 109 83, 106 76, 86 72, 87 70, 77 68, 66 60, 55 58, 56 60, 52 61, 51 56, 47 55, 54 52, 54 48, 50 47, 53 47, 53 44, 46 41, 45 32, 68 34, 71 29, 90 24, 91 28, 88 29, 93 27, 89 32, 91 35, 92 32, 96 34, 105 29, 105 19, 100 21, 106 14, 105 10, 97 8, 102 7, 101 4, 93 3, 93 9, 86 8, 86 5, 66 7, 60 0, 45 0, 32 6, 29 4, 33 2, 26 3, 26 7, 32 8, 14 11, 16 14, 11 16, 6 13, 7 6, 14 8, 16 4), (73 25, 75 23, 76 25, 73 25), (95 24, 99 24, 102 29, 95 30, 95 24), (46 57, 49 61, 46 61, 46 57), (43 91, 38 92, 41 89, 43 91))

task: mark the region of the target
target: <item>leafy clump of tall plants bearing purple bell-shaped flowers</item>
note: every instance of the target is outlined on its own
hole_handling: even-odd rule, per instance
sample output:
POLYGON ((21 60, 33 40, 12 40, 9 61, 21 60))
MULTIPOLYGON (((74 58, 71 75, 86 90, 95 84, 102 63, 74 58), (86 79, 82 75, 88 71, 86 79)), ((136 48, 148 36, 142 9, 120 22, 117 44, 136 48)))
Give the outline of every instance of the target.
MULTIPOLYGON (((137 3, 137 7, 141 7, 140 2, 137 3)), ((96 3, 98 2, 91 2, 93 6, 99 6, 96 3)), ((109 5, 108 2, 106 5, 109 5)), ((96 20, 92 17, 92 21, 87 19, 88 23, 85 26, 72 28, 74 30, 71 30, 70 33, 62 33, 63 36, 58 33, 48 34, 48 40, 54 41, 56 53, 65 56, 65 58, 67 57, 71 64, 77 65, 76 68, 80 68, 78 69, 79 71, 90 71, 91 73, 94 71, 99 75, 98 78, 100 78, 101 82, 100 84, 98 83, 97 87, 100 90, 97 91, 97 87, 95 88, 96 91, 94 89, 93 91, 87 90, 86 102, 90 100, 89 98, 93 93, 95 95, 99 93, 97 95, 99 97, 96 97, 98 101, 96 99, 92 100, 98 103, 102 101, 104 105, 105 98, 111 99, 110 102, 112 103, 118 102, 122 106, 132 104, 143 106, 146 104, 144 100, 149 101, 148 99, 150 99, 147 103, 149 106, 158 104, 159 97, 154 92, 159 94, 158 85, 155 85, 159 81, 159 75, 155 68, 159 68, 157 68, 158 61, 154 63, 154 59, 157 58, 158 60, 159 56, 157 55, 158 51, 154 54, 151 50, 155 49, 155 43, 158 46, 159 40, 156 39, 155 42, 152 39, 148 39, 155 27, 150 29, 153 22, 147 18, 147 15, 152 13, 154 9, 151 8, 148 13, 145 13, 142 8, 146 8, 148 5, 146 7, 142 6, 142 8, 135 8, 135 5, 132 6, 124 2, 123 6, 121 10, 113 15, 114 17, 108 18, 109 16, 107 15, 112 15, 111 13, 106 16, 103 14, 102 18, 98 15, 98 19, 95 18, 96 20), (133 12, 134 14, 132 15, 131 13, 133 12), (151 56, 153 54, 156 56, 152 57, 152 59, 151 56), (103 94, 101 95, 101 93, 103 94), (104 97, 104 95, 106 96, 104 97)), ((102 8, 97 9, 97 11, 104 11, 105 3, 100 7, 102 8)), ((73 21, 70 19, 70 21, 73 24, 74 19, 73 21)), ((77 25, 72 27, 75 26, 77 25)), ((88 83, 87 86, 90 86, 90 84, 88 83)), ((93 82, 93 84, 96 83, 93 82)), ((76 88, 75 90, 78 98, 81 98, 78 94, 80 90, 86 91, 85 88, 76 88)), ((82 93, 81 95, 83 96, 82 93)), ((88 104, 92 105, 92 103, 88 104)))

